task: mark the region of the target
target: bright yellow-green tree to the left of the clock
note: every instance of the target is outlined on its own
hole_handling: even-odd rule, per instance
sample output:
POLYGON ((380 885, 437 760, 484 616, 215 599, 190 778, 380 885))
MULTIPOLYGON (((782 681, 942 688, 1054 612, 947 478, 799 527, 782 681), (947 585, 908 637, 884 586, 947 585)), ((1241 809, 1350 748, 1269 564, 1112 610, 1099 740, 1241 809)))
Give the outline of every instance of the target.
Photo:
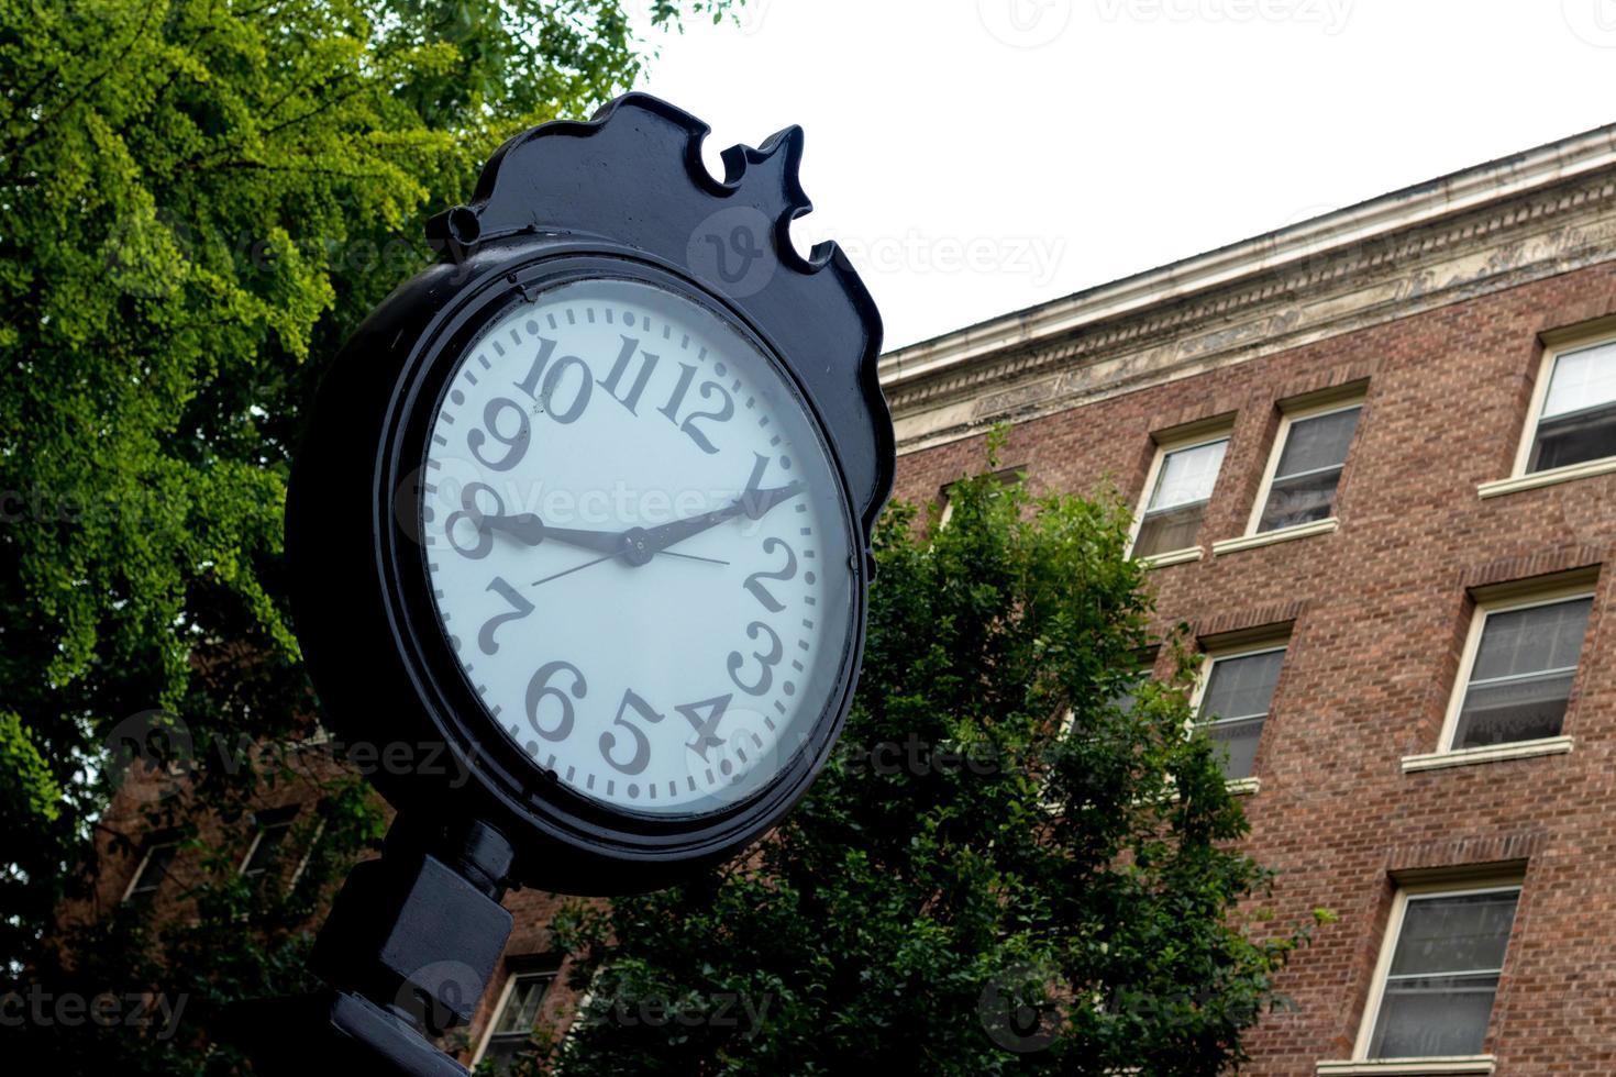
MULTIPOLYGON (((305 404, 359 318, 433 257, 425 216, 465 200, 503 139, 633 81, 645 44, 627 13, 0 0, 0 993, 69 972, 47 935, 94 877, 90 836, 121 773, 107 744, 131 715, 178 714, 200 751, 294 736, 314 714, 281 580, 305 404)), ((154 823, 238 817, 273 778, 200 765, 154 823)), ((331 798, 352 854, 375 804, 331 798)), ((200 907, 234 924, 215 896, 200 907)), ((92 956, 141 982, 157 954, 170 975, 213 961, 252 979, 241 954, 126 919, 69 946, 74 975, 92 956)), ((265 945, 255 987, 273 990, 296 961, 265 945)))

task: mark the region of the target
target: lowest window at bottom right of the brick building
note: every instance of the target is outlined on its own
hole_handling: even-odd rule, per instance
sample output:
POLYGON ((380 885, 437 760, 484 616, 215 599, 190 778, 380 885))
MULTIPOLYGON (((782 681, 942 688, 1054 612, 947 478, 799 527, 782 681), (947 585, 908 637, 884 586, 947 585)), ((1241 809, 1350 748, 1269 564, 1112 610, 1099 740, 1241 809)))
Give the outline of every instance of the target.
POLYGON ((1519 885, 1401 888, 1359 1058, 1479 1054, 1519 898, 1519 885))

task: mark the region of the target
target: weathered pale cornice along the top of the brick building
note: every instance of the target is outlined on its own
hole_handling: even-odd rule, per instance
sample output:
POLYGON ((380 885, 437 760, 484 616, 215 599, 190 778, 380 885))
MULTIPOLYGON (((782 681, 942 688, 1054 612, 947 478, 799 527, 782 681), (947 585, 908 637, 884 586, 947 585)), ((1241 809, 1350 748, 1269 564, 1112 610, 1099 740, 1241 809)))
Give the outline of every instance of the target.
POLYGON ((900 452, 1616 257, 1616 126, 889 352, 900 452))

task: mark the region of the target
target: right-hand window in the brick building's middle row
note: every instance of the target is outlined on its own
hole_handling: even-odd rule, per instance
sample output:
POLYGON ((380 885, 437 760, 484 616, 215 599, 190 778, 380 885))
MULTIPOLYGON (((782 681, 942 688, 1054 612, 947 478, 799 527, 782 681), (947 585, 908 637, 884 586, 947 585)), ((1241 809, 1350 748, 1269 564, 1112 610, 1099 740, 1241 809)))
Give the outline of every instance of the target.
POLYGON ((1443 749, 1559 736, 1592 609, 1587 589, 1479 604, 1443 749))

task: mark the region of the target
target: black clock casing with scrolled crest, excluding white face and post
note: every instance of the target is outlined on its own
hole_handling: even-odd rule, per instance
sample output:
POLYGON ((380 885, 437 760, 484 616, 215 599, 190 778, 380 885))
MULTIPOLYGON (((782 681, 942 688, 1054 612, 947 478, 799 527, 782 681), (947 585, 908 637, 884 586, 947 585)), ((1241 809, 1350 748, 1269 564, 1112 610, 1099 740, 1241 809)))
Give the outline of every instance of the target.
MULTIPOLYGON (((341 740, 377 746, 373 780, 412 817, 482 820, 516 849, 511 880, 609 895, 667 885, 756 840, 806 791, 852 701, 873 572, 869 538, 892 486, 876 381, 881 323, 845 255, 808 258, 789 226, 810 203, 802 132, 701 163, 706 126, 642 94, 587 123, 501 147, 475 200, 435 218, 438 263, 389 295, 322 384, 288 496, 294 615, 341 740), (837 683, 774 782, 722 811, 646 817, 577 796, 483 715, 430 609, 415 505, 433 402, 456 357, 519 297, 572 278, 677 291, 739 328, 811 415, 858 551, 837 683), (388 746, 406 765, 388 765, 388 746)), ((831 568, 826 565, 826 568, 831 568)))

